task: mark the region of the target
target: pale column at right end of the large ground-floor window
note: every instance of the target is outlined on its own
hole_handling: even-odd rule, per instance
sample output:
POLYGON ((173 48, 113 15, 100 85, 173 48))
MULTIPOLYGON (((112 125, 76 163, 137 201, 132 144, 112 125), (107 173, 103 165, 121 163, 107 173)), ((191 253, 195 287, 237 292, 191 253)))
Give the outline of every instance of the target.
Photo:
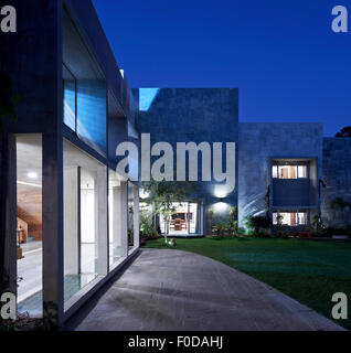
POLYGON ((108 202, 108 190, 107 190, 107 169, 99 167, 96 173, 95 180, 95 202, 96 202, 96 214, 95 214, 95 244, 97 255, 97 272, 99 275, 107 275, 108 272, 108 235, 107 235, 107 202, 108 202))

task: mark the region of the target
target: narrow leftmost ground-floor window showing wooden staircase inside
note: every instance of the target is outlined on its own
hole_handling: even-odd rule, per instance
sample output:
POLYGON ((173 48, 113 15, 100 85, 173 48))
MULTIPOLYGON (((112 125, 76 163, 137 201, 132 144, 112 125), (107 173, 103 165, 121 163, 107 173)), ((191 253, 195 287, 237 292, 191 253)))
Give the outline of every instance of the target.
MULTIPOLYGON (((42 136, 17 136, 18 311, 42 314, 42 136)), ((15 236, 15 235, 13 235, 15 236)))

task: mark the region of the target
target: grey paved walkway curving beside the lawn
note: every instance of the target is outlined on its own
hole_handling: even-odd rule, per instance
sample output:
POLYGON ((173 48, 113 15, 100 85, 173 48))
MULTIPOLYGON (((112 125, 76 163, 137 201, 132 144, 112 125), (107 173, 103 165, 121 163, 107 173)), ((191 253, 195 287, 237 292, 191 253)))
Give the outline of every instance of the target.
POLYGON ((88 311, 76 330, 342 330, 228 266, 166 249, 142 249, 88 311))

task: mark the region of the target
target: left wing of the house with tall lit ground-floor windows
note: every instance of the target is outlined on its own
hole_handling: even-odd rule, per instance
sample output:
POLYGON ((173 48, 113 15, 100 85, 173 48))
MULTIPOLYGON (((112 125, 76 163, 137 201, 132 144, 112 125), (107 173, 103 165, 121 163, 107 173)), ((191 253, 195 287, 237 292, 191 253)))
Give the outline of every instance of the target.
POLYGON ((138 185, 116 173, 135 103, 91 1, 11 6, 6 274, 21 312, 62 324, 139 247, 138 185))

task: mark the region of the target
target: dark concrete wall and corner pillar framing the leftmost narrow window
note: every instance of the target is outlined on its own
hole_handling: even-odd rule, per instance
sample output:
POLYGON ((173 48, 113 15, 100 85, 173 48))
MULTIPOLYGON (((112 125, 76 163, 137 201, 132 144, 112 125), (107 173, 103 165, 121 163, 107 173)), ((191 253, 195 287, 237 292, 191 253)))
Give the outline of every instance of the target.
MULTIPOLYGON (((20 95, 18 120, 10 125, 9 131, 40 132, 43 137, 43 302, 45 314, 52 314, 60 323, 63 317, 62 1, 12 0, 8 4, 17 9, 18 32, 6 36, 4 67, 13 90, 20 95)), ((15 189, 12 192, 15 194, 15 189)), ((8 266, 15 268, 15 263, 8 266)))

